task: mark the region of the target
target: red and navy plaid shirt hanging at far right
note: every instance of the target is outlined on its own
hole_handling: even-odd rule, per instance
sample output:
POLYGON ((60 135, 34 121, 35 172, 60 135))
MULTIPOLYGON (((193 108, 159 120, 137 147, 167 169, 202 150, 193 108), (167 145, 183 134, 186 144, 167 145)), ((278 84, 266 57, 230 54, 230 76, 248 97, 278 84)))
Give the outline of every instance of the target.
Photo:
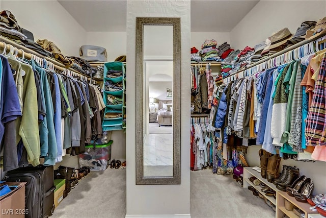
POLYGON ((307 146, 326 145, 326 55, 322 58, 318 79, 306 120, 306 144, 307 146))

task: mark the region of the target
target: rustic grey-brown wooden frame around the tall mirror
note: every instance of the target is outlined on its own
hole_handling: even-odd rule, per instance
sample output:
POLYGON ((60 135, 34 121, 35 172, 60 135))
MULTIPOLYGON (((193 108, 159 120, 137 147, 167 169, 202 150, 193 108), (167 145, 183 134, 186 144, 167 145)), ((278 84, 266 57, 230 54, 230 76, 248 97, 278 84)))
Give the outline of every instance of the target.
POLYGON ((136 17, 136 185, 180 184, 181 150, 181 20, 136 17), (144 44, 145 25, 173 26, 173 176, 144 177, 144 44))

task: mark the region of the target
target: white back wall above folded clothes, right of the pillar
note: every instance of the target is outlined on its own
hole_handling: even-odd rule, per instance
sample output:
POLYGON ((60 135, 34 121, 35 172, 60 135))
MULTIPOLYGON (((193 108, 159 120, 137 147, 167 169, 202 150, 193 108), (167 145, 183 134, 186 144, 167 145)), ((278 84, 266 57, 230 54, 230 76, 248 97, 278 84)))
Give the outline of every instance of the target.
MULTIPOLYGON (((192 32, 191 33, 191 46, 190 47, 196 47, 199 51, 201 50, 201 46, 204 43, 204 41, 208 39, 215 39, 218 42, 218 46, 223 44, 224 42, 228 42, 230 44, 230 33, 223 33, 223 32, 210 32, 210 33, 198 33, 198 32, 192 32)), ((190 52, 189 47, 189 52, 190 52)), ((233 48, 232 44, 231 47, 233 48)))

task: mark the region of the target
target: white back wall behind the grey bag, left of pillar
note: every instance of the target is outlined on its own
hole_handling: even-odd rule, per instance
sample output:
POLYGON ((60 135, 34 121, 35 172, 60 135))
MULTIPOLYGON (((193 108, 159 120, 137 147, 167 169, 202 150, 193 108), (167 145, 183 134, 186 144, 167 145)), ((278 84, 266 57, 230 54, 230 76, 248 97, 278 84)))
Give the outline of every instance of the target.
POLYGON ((114 61, 127 53, 126 32, 87 32, 86 43, 105 47, 107 61, 114 61))

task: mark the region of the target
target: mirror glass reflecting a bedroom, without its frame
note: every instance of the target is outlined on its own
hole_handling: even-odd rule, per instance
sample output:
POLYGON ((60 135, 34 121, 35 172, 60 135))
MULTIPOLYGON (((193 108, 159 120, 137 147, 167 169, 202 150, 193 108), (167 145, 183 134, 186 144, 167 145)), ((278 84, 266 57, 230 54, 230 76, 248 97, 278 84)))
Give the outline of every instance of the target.
POLYGON ((173 176, 173 26, 145 25, 143 177, 173 176))

